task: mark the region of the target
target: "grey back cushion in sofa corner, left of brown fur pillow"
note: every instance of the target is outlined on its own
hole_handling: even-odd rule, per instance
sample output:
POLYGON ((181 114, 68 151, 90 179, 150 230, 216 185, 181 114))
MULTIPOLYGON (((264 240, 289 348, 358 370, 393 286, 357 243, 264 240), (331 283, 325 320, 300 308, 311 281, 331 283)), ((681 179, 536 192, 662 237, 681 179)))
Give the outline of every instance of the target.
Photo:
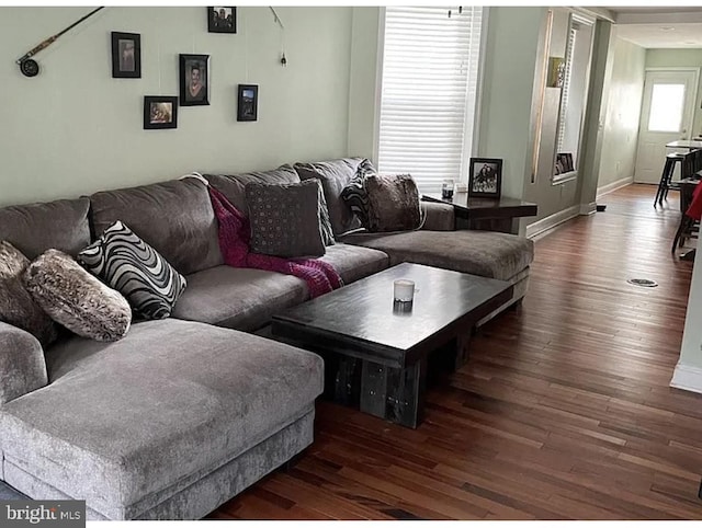
POLYGON ((341 198, 341 193, 351 179, 356 175, 359 168, 361 170, 372 168, 369 160, 364 158, 347 158, 316 163, 295 163, 294 167, 301 180, 314 177, 321 181, 335 236, 340 236, 361 227, 359 219, 341 198))

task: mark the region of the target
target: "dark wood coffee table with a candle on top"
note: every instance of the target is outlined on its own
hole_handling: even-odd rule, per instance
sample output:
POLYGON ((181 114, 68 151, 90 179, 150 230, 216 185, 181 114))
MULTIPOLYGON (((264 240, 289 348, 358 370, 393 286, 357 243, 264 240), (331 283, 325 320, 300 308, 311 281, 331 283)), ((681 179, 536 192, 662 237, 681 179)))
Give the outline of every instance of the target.
POLYGON ((336 401, 417 427, 429 354, 456 340, 452 360, 462 365, 475 323, 511 296, 502 280, 405 263, 273 315, 271 332, 322 355, 336 401), (417 285, 411 311, 394 306, 398 278, 417 285))

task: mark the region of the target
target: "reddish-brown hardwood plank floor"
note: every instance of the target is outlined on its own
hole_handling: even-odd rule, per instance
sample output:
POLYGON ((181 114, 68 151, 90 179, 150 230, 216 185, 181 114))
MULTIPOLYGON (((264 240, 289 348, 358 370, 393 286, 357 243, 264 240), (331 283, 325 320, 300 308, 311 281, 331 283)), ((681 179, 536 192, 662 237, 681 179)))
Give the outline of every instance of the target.
POLYGON ((670 255, 677 194, 656 210, 655 192, 536 242, 523 306, 429 390, 419 428, 320 402, 299 462, 212 517, 702 519, 702 397, 668 387, 692 264, 670 255))

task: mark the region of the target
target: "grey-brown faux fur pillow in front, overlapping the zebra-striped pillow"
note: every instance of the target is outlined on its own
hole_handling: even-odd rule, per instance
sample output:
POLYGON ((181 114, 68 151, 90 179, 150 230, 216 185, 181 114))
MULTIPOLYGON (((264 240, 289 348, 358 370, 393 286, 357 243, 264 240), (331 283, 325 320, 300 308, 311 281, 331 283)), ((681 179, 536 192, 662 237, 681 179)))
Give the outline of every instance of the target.
POLYGON ((48 250, 30 264, 24 285, 54 321, 81 337, 117 341, 129 330, 132 309, 126 299, 58 250, 48 250))

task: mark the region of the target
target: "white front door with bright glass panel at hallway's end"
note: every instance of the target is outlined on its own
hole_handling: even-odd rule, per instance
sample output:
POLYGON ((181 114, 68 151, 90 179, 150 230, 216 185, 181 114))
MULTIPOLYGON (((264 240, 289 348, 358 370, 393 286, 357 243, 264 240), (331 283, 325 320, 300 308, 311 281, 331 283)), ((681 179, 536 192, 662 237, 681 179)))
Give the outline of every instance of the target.
POLYGON ((698 77, 697 69, 646 71, 634 182, 658 183, 666 144, 691 138, 698 77))

